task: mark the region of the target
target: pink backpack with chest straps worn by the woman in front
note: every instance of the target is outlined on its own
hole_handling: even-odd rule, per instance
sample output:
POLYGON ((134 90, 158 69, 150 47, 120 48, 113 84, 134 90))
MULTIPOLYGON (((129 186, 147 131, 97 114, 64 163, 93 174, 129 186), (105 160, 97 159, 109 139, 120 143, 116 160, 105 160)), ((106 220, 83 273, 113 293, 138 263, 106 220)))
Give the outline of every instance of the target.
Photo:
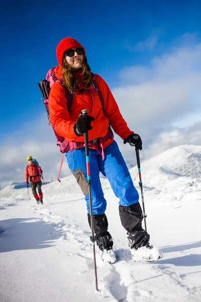
MULTIPOLYGON (((50 94, 50 89, 52 87, 52 85, 54 84, 54 82, 60 82, 61 84, 63 84, 61 79, 57 79, 55 72, 54 72, 54 68, 51 68, 46 75, 45 80, 40 81, 40 83, 38 83, 38 86, 40 88, 40 91, 42 93, 42 101, 45 105, 45 108, 47 110, 47 116, 48 116, 48 120, 49 120, 49 125, 51 124, 51 120, 50 120, 50 114, 49 114, 49 107, 48 107, 48 98, 49 98, 49 94, 50 94)), ((97 81, 95 79, 95 75, 93 73, 91 73, 92 75, 92 82, 93 82, 93 89, 82 89, 82 90, 77 90, 75 91, 75 93, 84 93, 84 92, 97 92, 100 101, 102 103, 103 106, 103 98, 99 93, 99 89, 98 89, 98 84, 97 81)), ((73 103, 73 99, 74 99, 74 93, 69 92, 69 90, 64 86, 65 88, 65 96, 67 101, 67 109, 68 112, 70 112, 70 108, 72 106, 73 103)), ((104 111, 104 106, 103 106, 103 111, 104 111)), ((68 144, 66 143, 66 140, 64 137, 60 136, 59 134, 57 134, 57 132, 55 131, 54 127, 52 126, 53 130, 54 130, 54 134, 56 136, 57 142, 56 144, 59 146, 60 148, 60 152, 61 153, 66 153, 68 151, 68 144)), ((113 135, 112 130, 111 131, 111 135, 113 135)))

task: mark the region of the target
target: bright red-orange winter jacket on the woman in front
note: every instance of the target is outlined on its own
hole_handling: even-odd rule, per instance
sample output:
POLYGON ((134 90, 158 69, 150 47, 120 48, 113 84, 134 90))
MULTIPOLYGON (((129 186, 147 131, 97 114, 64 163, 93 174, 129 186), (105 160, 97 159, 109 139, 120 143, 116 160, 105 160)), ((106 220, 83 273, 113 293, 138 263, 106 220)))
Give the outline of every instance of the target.
MULTIPOLYGON (((61 67, 57 66, 55 68, 55 75, 57 78, 61 78, 60 74, 61 67)), ((76 74, 80 78, 81 83, 79 90, 84 89, 82 74, 80 72, 77 72, 76 74)), ((73 129, 73 126, 83 109, 88 109, 88 115, 94 117, 94 121, 91 122, 93 128, 88 131, 89 141, 98 137, 104 137, 108 132, 109 125, 112 126, 114 131, 122 139, 125 139, 130 134, 134 133, 129 129, 126 121, 123 119, 119 107, 106 82, 97 74, 95 74, 95 78, 99 87, 99 92, 104 98, 105 114, 102 110, 102 103, 97 92, 75 94, 70 113, 68 113, 64 86, 60 82, 55 82, 50 90, 49 112, 52 125, 55 131, 68 141, 84 142, 84 135, 77 136, 73 129)), ((90 88, 92 89, 93 87, 91 86, 90 88)), ((103 147, 106 148, 112 142, 113 139, 111 138, 103 141, 103 147)))

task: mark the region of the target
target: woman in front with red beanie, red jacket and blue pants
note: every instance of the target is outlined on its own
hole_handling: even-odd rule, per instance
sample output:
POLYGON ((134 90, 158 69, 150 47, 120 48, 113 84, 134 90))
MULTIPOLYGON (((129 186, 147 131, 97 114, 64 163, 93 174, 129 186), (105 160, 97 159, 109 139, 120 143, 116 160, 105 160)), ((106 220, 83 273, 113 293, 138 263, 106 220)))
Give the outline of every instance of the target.
POLYGON ((142 140, 140 135, 134 135, 134 131, 129 129, 107 83, 98 74, 91 73, 85 54, 84 47, 70 37, 63 39, 57 46, 59 65, 54 69, 57 80, 49 94, 52 126, 67 143, 68 167, 85 195, 90 225, 83 135, 88 131, 93 225, 95 241, 103 261, 113 263, 116 255, 112 236, 108 232, 105 214, 107 202, 100 183, 100 172, 109 179, 115 195, 119 198, 120 218, 127 231, 134 259, 156 260, 162 253, 149 244, 149 234, 142 228, 143 213, 138 202, 139 194, 114 140, 111 127, 124 143, 131 142, 137 149, 142 149, 142 140), (93 85, 94 77, 98 89, 93 85), (66 90, 73 95, 70 112, 66 90), (83 109, 88 110, 87 115, 80 114, 83 109))

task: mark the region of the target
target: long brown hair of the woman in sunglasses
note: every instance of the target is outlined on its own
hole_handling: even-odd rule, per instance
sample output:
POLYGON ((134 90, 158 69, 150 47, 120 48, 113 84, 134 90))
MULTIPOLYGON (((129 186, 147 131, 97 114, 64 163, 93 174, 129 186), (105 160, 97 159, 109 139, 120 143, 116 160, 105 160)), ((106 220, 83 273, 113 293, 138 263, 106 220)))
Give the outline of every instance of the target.
MULTIPOLYGON (((65 55, 64 55, 65 56, 65 55)), ((89 88, 92 85, 91 79, 91 69, 87 63, 87 58, 83 55, 83 61, 81 63, 82 75, 83 75, 83 84, 86 88, 89 88)), ((76 75, 76 69, 70 68, 66 59, 63 59, 62 64, 62 80, 67 89, 73 93, 80 86, 80 80, 76 75)))

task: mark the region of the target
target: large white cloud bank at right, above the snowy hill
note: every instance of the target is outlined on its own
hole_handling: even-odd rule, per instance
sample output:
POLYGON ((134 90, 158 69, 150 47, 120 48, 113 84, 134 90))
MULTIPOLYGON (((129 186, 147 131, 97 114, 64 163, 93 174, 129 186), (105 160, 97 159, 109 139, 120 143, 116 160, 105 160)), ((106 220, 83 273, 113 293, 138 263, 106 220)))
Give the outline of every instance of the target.
MULTIPOLYGON (((201 44, 187 44, 153 58, 147 67, 121 70, 120 85, 113 94, 129 127, 142 136, 147 150, 158 139, 164 141, 162 133, 171 132, 179 123, 182 129, 175 143, 201 144, 198 128, 193 129, 194 134, 191 132, 193 141, 191 136, 181 139, 184 126, 200 120, 200 83, 201 44)), ((154 152, 150 151, 150 155, 154 152)))

